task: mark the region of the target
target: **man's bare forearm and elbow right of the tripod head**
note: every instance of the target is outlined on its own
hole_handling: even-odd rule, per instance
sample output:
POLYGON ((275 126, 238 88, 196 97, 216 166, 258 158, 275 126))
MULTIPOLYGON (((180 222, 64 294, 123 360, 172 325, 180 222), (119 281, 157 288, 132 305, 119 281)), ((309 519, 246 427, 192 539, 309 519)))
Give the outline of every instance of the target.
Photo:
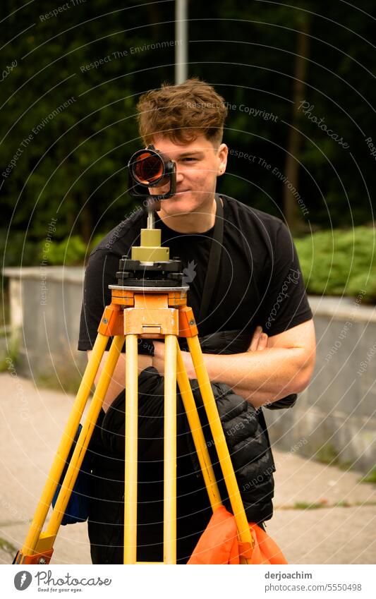
MULTIPOLYGON (((204 353, 203 356, 212 382, 226 383, 255 407, 300 392, 307 384, 301 348, 266 348, 231 355, 204 353)), ((195 377, 189 353, 184 361, 188 376, 195 377)))

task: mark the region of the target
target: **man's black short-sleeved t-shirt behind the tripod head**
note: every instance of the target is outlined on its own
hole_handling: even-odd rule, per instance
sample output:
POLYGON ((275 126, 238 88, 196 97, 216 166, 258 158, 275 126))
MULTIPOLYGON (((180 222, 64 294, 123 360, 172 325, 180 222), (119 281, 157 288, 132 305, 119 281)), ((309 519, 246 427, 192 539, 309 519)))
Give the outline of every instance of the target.
MULTIPOLYGON (((252 333, 261 325, 272 337, 310 320, 313 315, 289 229, 270 214, 226 195, 221 197, 222 255, 210 307, 202 322, 198 320, 200 301, 214 227, 205 233, 181 234, 166 226, 156 214, 156 227, 162 229, 162 246, 169 246, 170 257, 180 258, 186 269, 190 287, 187 303, 193 308, 199 334, 221 330, 252 333)), ((147 214, 140 209, 112 229, 90 254, 78 349, 92 349, 104 307, 111 303, 108 286, 117 284, 119 259, 123 255, 131 257, 131 247, 140 245, 140 229, 146 226, 147 214)), ((145 339, 140 339, 138 351, 151 353, 152 349, 145 339)))

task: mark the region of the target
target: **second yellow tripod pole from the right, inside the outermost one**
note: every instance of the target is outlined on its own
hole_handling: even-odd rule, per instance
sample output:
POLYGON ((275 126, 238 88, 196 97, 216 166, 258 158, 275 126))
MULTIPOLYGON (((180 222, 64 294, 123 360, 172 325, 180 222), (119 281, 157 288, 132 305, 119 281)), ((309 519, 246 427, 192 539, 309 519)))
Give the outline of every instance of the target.
POLYGON ((200 461, 202 476, 205 480, 207 494, 209 495, 210 504, 212 510, 222 505, 221 495, 215 480, 214 471, 212 467, 212 461, 210 460, 209 452, 207 451, 207 444, 205 442, 204 433, 202 432, 200 417, 196 408, 195 400, 193 399, 192 389, 188 379, 186 367, 181 356, 181 349, 178 346, 176 340, 177 351, 178 351, 178 373, 177 380, 178 386, 181 393, 181 399, 183 399, 184 409, 188 418, 188 424, 190 426, 190 432, 192 432, 193 442, 195 443, 196 452, 198 454, 198 460, 200 461))

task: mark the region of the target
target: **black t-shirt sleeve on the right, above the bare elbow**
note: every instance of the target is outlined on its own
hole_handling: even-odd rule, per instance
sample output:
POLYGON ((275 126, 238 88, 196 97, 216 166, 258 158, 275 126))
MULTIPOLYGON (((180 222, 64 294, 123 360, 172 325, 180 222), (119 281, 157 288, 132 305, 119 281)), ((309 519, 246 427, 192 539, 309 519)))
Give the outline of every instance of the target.
POLYGON ((262 300, 260 325, 269 337, 292 329, 313 317, 298 253, 289 229, 281 222, 272 241, 272 264, 262 300))

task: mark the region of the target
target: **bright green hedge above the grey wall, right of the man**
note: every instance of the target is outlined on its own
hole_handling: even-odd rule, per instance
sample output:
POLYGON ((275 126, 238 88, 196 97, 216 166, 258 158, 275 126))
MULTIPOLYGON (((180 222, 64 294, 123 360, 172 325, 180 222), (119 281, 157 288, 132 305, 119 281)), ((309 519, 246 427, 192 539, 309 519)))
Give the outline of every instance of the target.
POLYGON ((357 296, 376 301, 375 229, 357 226, 296 238, 307 291, 325 296, 357 296))

